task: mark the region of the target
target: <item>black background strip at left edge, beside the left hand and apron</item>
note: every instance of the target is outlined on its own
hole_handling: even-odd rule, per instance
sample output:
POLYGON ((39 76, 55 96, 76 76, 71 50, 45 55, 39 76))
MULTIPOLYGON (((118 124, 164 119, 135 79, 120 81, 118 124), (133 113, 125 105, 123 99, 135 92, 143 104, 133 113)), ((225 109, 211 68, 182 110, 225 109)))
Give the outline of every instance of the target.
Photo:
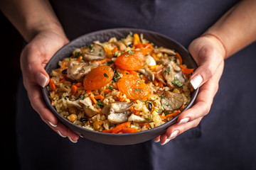
POLYGON ((19 169, 15 111, 18 79, 21 76, 19 57, 23 38, 16 28, 0 13, 1 18, 1 165, 19 169), (4 102, 3 102, 4 101, 4 102))

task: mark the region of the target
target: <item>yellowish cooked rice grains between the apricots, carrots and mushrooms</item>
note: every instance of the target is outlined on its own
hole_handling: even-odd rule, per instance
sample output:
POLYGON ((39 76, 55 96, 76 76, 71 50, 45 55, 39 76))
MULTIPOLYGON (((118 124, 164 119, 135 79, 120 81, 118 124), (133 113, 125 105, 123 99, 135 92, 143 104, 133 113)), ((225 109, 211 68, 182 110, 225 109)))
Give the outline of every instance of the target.
MULTIPOLYGON (((141 38, 142 43, 149 43, 148 40, 143 38, 143 35, 140 35, 140 38, 141 38)), ((130 34, 127 35, 127 37, 123 38, 122 40, 117 40, 117 38, 111 38, 107 42, 95 41, 94 43, 98 44, 98 45, 102 45, 102 47, 108 48, 110 50, 113 50, 114 47, 116 47, 116 46, 114 46, 112 42, 117 42, 117 41, 124 42, 124 44, 127 45, 126 52, 129 50, 132 50, 132 48, 129 47, 129 45, 131 45, 133 43, 134 37, 130 34)), ((50 86, 47 86, 47 89, 49 91, 49 98, 50 98, 50 101, 52 102, 52 106, 55 107, 56 111, 58 113, 60 113, 60 115, 63 116, 63 118, 68 118, 69 115, 71 115, 72 113, 75 113, 75 115, 77 115, 77 118, 75 120, 73 120, 73 123, 75 125, 79 125, 82 128, 85 128, 88 130, 95 130, 95 131, 102 132, 102 130, 109 130, 109 129, 117 127, 117 125, 119 125, 120 123, 110 123, 110 121, 107 119, 107 115, 104 115, 101 113, 102 108, 97 108, 97 106, 94 105, 93 107, 98 109, 98 113, 96 115, 92 116, 92 118, 88 118, 87 115, 85 115, 85 111, 82 109, 82 107, 80 108, 80 107, 73 107, 73 106, 68 105, 68 103, 67 103, 68 100, 69 101, 78 101, 79 99, 86 98, 87 96, 89 96, 83 86, 79 86, 77 93, 72 94, 71 86, 77 84, 78 82, 70 81, 70 79, 67 79, 65 74, 62 73, 63 70, 66 69, 64 62, 68 63, 70 61, 77 60, 77 58, 75 57, 77 52, 81 52, 81 50, 75 49, 73 51, 72 56, 59 61, 58 62, 59 68, 54 69, 50 73, 50 78, 53 80, 53 82, 56 86, 55 90, 51 89, 50 86), (59 92, 61 87, 65 88, 64 92, 63 91, 59 92)), ((119 57, 119 55, 121 55, 122 53, 123 52, 121 52, 119 50, 117 52, 117 57, 119 57)), ((175 55, 168 55, 165 52, 159 52, 159 53, 155 54, 154 57, 156 60, 159 60, 159 61, 161 61, 162 58, 165 57, 165 58, 169 59, 169 61, 175 62, 177 65, 180 63, 180 61, 176 59, 175 55)), ((116 60, 116 58, 112 57, 112 58, 110 58, 110 60, 112 60, 114 62, 116 60)), ((83 62, 83 61, 81 61, 81 62, 83 62)), ((103 63, 103 64, 106 64, 106 63, 103 63)), ((107 64, 107 65, 114 68, 114 63, 107 64)), ((183 64, 183 66, 186 67, 185 64, 183 64)), ((163 64, 161 64, 161 63, 158 64, 154 68, 154 73, 161 71, 161 69, 163 69, 163 67, 164 67, 163 64)), ((116 69, 116 71, 119 73, 119 75, 122 79, 123 72, 120 72, 119 69, 116 69)), ((146 78, 146 76, 144 74, 139 73, 139 77, 142 79, 142 81, 146 82, 145 81, 146 79, 144 79, 144 78, 146 78)), ((170 86, 164 86, 163 88, 161 88, 160 86, 156 86, 156 84, 154 84, 154 82, 147 81, 146 84, 150 88, 151 95, 145 101, 142 101, 141 99, 138 99, 137 101, 132 101, 129 98, 127 98, 127 96, 125 94, 120 94, 120 91, 117 87, 117 82, 114 82, 113 80, 110 81, 109 84, 102 86, 100 89, 93 90, 92 94, 94 96, 102 95, 104 97, 104 99, 102 100, 102 103, 104 104, 104 106, 107 106, 110 103, 114 103, 114 102, 118 101, 120 97, 124 98, 124 101, 126 101, 127 103, 134 102, 134 105, 133 105, 134 111, 132 111, 132 113, 134 113, 136 111, 137 115, 139 115, 141 118, 145 118, 146 120, 150 120, 150 121, 148 123, 132 122, 129 128, 135 128, 138 131, 144 131, 144 130, 149 130, 151 128, 156 128, 159 125, 163 125, 164 123, 173 119, 174 117, 172 117, 172 116, 167 116, 168 118, 166 118, 166 115, 169 115, 171 113, 176 113, 176 111, 181 111, 191 101, 191 88, 192 87, 188 81, 189 76, 183 74, 183 77, 186 80, 183 83, 183 86, 181 86, 181 87, 175 86, 174 88, 171 88, 170 86), (112 91, 106 93, 105 90, 109 89, 110 86, 112 87, 112 91), (185 100, 183 102, 183 108, 178 108, 174 111, 169 111, 168 114, 166 114, 166 112, 163 109, 164 103, 161 103, 162 95, 157 94, 159 89, 161 91, 172 91, 177 94, 181 94, 181 93, 184 94, 185 100), (151 111, 149 110, 149 102, 152 104, 151 111)))

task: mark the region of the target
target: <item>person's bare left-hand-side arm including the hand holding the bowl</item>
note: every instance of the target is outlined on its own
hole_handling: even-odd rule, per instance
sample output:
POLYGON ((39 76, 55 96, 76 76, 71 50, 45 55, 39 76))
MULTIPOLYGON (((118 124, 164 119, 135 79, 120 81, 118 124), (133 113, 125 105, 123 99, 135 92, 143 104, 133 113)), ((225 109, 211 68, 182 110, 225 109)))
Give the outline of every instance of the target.
POLYGON ((46 0, 6 0, 0 3, 1 11, 28 42, 21 52, 21 72, 31 106, 60 136, 76 142, 78 135, 58 122, 41 94, 41 86, 46 86, 49 81, 44 69, 46 63, 68 43, 53 8, 46 0))

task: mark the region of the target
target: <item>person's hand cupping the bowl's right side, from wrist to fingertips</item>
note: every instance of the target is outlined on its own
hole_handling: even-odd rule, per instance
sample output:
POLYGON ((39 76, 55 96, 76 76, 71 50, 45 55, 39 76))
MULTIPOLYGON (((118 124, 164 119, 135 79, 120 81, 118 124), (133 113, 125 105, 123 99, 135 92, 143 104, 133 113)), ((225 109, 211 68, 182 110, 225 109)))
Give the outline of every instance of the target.
POLYGON ((190 78, 194 89, 199 89, 195 103, 187 111, 181 113, 177 123, 171 125, 163 135, 155 138, 161 145, 166 144, 182 132, 196 127, 203 116, 210 111, 213 98, 218 91, 218 83, 223 73, 225 50, 223 45, 213 36, 206 35, 191 42, 189 52, 198 64, 198 69, 190 78))

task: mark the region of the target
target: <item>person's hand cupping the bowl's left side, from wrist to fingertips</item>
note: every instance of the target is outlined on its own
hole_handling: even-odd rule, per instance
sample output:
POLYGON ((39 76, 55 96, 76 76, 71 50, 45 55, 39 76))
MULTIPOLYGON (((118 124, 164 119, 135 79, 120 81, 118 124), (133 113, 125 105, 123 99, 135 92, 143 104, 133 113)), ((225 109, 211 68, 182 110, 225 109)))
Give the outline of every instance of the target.
POLYGON ((58 122, 58 119, 46 106, 41 93, 41 86, 44 87, 49 82, 49 76, 44 67, 55 52, 68 42, 68 38, 58 31, 41 31, 21 52, 21 72, 23 84, 33 109, 60 136, 68 137, 72 142, 77 142, 78 135, 58 122))

